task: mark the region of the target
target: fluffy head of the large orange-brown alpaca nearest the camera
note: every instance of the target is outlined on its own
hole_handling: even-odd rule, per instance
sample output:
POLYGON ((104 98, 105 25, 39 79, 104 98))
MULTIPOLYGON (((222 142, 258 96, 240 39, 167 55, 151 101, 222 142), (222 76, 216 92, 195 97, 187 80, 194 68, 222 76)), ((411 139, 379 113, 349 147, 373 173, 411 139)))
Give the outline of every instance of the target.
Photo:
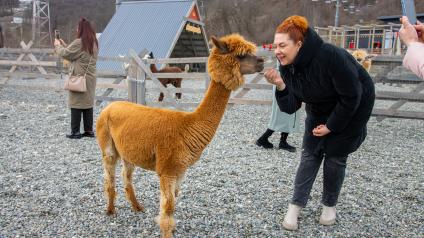
POLYGON ((244 84, 244 74, 263 70, 264 60, 255 56, 256 46, 238 34, 212 37, 214 47, 208 60, 212 80, 228 90, 236 90, 244 84))

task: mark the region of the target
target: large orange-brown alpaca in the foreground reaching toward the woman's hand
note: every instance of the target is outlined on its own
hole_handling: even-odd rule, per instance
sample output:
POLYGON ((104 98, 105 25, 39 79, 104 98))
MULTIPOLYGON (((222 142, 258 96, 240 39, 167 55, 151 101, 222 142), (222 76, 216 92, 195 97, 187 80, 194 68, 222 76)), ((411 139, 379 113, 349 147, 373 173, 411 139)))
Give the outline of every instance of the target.
POLYGON ((244 84, 244 74, 263 70, 256 47, 234 34, 219 40, 209 56, 211 76, 206 96, 194 112, 151 108, 130 102, 113 102, 97 120, 97 141, 103 156, 107 214, 115 213, 115 167, 122 160, 127 199, 135 211, 143 211, 132 185, 134 167, 156 171, 160 181, 162 237, 172 237, 174 210, 187 169, 199 160, 212 140, 232 90, 244 84))

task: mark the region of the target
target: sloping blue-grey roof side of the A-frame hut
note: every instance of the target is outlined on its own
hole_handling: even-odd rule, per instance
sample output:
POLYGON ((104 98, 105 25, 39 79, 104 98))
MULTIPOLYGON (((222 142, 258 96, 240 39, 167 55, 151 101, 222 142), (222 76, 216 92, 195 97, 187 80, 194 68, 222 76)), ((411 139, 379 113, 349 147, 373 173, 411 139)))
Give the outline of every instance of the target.
MULTIPOLYGON (((192 5, 192 0, 122 2, 99 38, 99 55, 146 48, 155 58, 166 58, 192 5)), ((97 69, 123 71, 119 62, 98 61, 97 69)))

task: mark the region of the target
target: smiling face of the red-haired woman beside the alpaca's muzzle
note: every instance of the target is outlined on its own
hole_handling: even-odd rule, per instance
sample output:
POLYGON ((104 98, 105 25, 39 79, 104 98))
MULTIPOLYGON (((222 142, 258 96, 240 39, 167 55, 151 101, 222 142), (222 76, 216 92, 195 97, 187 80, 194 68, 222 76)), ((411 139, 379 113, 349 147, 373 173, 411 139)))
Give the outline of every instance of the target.
POLYGON ((281 65, 293 63, 297 53, 302 47, 302 42, 294 42, 288 33, 276 33, 274 36, 275 56, 280 60, 281 65))

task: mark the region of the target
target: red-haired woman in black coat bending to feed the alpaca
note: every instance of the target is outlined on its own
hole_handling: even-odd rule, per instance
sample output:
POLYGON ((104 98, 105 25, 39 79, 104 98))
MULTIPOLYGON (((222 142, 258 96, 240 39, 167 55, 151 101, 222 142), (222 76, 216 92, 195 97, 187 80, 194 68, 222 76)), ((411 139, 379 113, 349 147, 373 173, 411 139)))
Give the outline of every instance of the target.
POLYGON ((324 161, 323 210, 320 223, 336 221, 336 203, 345 177, 346 161, 367 134, 375 100, 374 84, 365 69, 344 49, 324 43, 304 17, 285 19, 274 36, 278 73, 264 76, 276 85, 280 110, 296 112, 306 104, 305 133, 294 192, 283 227, 298 229, 300 209, 324 161))

